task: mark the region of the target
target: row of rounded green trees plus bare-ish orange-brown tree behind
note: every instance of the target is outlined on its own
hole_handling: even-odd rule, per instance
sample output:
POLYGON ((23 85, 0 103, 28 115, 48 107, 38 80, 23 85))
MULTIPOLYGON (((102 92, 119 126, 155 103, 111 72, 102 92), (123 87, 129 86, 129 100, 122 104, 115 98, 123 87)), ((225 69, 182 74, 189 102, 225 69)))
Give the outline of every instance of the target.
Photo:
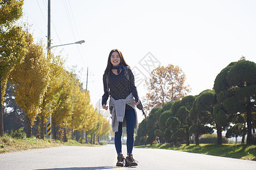
MULTIPOLYGON (((163 67, 163 66, 162 66, 163 67)), ((167 80, 168 75, 181 74, 172 65, 168 69, 156 68, 151 73, 151 78, 167 80)), ((170 79, 170 78, 168 78, 170 79)), ((217 131, 218 145, 222 144, 222 131, 226 130, 226 137, 242 137, 242 143, 256 144, 256 64, 246 61, 244 57, 238 62, 232 62, 216 76, 213 90, 204 90, 196 96, 183 96, 176 92, 175 99, 173 89, 187 89, 184 83, 179 87, 173 87, 176 82, 158 84, 158 81, 148 83, 148 88, 158 90, 158 94, 169 95, 159 98, 148 94, 147 102, 158 101, 159 105, 151 105, 148 109, 147 121, 139 124, 135 145, 160 143, 190 143, 192 135, 195 135, 195 143, 199 145, 199 137, 202 134, 211 134, 217 131), (171 83, 171 86, 169 86, 171 83), (169 86, 170 91, 162 93, 162 87, 169 86), (160 87, 160 88, 159 88, 160 87), (172 97, 170 97, 172 96, 172 97), (169 99, 161 103, 160 99, 169 99)), ((163 80, 162 80, 163 81, 163 80)), ((184 92, 183 92, 184 94, 184 92)), ((156 102, 155 102, 156 103, 156 102)))

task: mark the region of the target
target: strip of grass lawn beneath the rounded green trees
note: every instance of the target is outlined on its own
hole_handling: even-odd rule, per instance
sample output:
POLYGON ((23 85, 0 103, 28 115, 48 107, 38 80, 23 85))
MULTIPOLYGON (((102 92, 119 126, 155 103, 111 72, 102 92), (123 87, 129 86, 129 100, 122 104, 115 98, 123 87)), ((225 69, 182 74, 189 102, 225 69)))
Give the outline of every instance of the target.
POLYGON ((178 150, 193 152, 199 154, 207 154, 214 156, 224 156, 228 158, 256 160, 256 145, 215 145, 215 144, 194 144, 186 146, 185 144, 173 146, 170 143, 154 144, 146 146, 135 146, 136 148, 161 148, 167 150, 178 150))

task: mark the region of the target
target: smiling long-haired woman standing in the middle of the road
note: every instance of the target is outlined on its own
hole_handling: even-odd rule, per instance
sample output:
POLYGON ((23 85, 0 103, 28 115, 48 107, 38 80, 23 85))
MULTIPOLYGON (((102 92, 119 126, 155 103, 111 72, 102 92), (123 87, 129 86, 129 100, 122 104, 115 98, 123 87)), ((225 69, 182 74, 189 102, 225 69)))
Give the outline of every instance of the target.
POLYGON ((122 53, 113 49, 108 58, 103 75, 104 95, 102 108, 108 110, 106 101, 110 96, 109 109, 112 114, 112 130, 115 134, 115 150, 117 151, 117 166, 136 166, 133 158, 134 128, 138 129, 136 105, 139 104, 137 88, 134 84, 134 75, 125 62, 122 53), (127 157, 122 155, 122 127, 127 130, 127 157))

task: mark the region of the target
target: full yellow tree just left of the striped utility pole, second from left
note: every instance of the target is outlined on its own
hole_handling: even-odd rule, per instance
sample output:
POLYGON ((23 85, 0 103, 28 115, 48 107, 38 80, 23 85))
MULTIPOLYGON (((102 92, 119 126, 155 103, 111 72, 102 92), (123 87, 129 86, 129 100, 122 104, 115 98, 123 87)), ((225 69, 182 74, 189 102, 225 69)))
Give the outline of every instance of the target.
POLYGON ((27 54, 24 62, 15 66, 9 81, 15 84, 15 101, 27 118, 27 137, 32 137, 32 126, 40 113, 49 82, 49 61, 42 44, 35 44, 30 33, 26 33, 27 54))

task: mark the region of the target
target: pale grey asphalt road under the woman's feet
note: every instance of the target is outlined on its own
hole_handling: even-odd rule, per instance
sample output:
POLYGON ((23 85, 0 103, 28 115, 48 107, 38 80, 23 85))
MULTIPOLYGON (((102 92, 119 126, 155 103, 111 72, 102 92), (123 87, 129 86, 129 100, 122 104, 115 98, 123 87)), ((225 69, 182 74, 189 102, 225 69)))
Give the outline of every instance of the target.
POLYGON ((255 161, 181 151, 134 148, 133 155, 137 167, 115 167, 114 145, 54 147, 2 154, 0 169, 256 169, 255 161))

